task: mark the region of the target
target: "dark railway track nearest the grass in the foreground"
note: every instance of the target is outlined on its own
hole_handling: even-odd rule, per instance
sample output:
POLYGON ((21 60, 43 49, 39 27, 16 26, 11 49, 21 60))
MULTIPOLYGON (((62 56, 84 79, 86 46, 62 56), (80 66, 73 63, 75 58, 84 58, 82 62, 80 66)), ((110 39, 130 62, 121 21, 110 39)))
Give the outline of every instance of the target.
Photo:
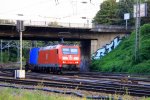
POLYGON ((94 92, 106 92, 106 93, 116 93, 116 94, 126 94, 128 91, 129 95, 134 96, 150 96, 150 86, 135 86, 135 85, 120 85, 120 84, 85 84, 85 83, 73 83, 73 82, 57 82, 57 81, 45 81, 45 80, 32 80, 32 79, 14 79, 14 78, 2 78, 0 81, 9 82, 15 84, 24 85, 39 85, 47 87, 60 87, 60 88, 72 88, 79 90, 87 90, 94 92))

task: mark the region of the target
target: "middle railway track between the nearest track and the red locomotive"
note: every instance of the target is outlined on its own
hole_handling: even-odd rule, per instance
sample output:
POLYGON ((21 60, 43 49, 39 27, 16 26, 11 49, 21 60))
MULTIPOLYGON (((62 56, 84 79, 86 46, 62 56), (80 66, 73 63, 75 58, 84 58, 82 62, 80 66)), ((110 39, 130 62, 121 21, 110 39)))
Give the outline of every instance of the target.
MULTIPOLYGON (((1 75, 5 75, 5 76, 13 76, 13 72, 9 72, 9 71, 4 71, 5 73, 0 73, 1 75)), ((112 82, 120 82, 122 84, 142 84, 142 85, 146 85, 146 84, 149 84, 150 83, 150 80, 149 78, 132 78, 132 77, 126 77, 126 76, 113 76, 113 75, 107 75, 107 76, 103 76, 103 75, 87 75, 87 74, 63 74, 63 75, 54 75, 54 74, 41 74, 41 73, 27 73, 28 78, 32 78, 32 79, 53 79, 53 80, 72 80, 72 79, 75 79, 76 80, 85 80, 85 81, 88 81, 88 80, 100 80, 100 81, 112 81, 112 82), (38 77, 36 77, 38 76, 38 77), (51 76, 51 77, 49 77, 51 76)), ((96 81, 94 81, 96 82, 96 81)))

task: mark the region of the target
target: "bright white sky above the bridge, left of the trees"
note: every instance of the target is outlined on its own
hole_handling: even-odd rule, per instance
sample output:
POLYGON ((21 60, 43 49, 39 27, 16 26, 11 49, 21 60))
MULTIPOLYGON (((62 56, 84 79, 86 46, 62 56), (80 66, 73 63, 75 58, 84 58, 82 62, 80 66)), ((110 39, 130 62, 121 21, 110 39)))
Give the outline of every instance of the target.
POLYGON ((0 19, 52 20, 71 23, 91 21, 103 1, 0 0, 0 19), (18 14, 23 14, 23 16, 18 16, 18 14), (86 19, 83 19, 83 17, 86 17, 86 19))

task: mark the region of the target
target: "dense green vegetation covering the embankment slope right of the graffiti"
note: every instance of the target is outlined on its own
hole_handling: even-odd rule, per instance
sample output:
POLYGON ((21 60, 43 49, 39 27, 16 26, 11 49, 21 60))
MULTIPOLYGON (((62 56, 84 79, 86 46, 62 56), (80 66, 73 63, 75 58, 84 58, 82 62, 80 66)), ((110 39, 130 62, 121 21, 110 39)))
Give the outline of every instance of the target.
POLYGON ((99 60, 93 60, 91 69, 100 72, 150 73, 150 24, 140 28, 138 60, 135 61, 135 31, 116 49, 99 60))

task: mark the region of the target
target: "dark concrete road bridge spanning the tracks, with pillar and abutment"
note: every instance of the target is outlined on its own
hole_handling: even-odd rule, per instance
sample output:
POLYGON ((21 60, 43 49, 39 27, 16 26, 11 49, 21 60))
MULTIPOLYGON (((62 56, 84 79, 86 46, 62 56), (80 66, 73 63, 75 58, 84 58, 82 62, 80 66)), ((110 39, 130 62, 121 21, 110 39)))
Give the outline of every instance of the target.
MULTIPOLYGON (((129 34, 131 29, 125 30, 125 26, 95 25, 93 27, 71 27, 63 25, 25 25, 23 40, 58 41, 80 41, 83 70, 89 66, 91 54, 110 44, 115 38, 121 39, 129 34), (84 65, 86 63, 86 65, 84 65)), ((0 25, 0 39, 18 40, 19 33, 16 31, 15 23, 0 25)))

